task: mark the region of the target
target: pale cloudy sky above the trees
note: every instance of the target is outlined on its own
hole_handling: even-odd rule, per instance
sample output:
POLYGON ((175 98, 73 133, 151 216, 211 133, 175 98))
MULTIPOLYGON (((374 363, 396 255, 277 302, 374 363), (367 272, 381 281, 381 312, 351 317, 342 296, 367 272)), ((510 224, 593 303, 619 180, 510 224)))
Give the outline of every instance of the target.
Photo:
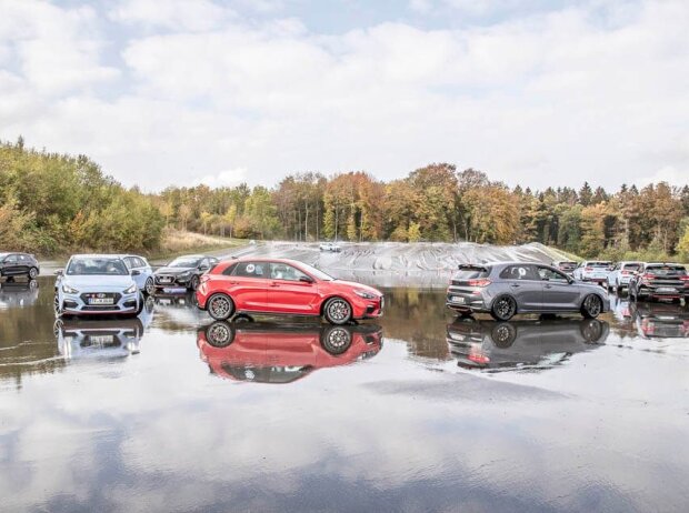
POLYGON ((0 0, 0 139, 127 185, 689 182, 689 1, 0 0))

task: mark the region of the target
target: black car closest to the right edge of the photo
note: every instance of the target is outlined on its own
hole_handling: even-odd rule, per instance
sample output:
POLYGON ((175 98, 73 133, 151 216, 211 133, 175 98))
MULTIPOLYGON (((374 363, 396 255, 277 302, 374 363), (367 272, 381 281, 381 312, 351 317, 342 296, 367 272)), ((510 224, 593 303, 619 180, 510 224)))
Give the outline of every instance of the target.
POLYGON ((632 301, 669 299, 689 301, 689 275, 677 263, 645 263, 629 280, 632 301))

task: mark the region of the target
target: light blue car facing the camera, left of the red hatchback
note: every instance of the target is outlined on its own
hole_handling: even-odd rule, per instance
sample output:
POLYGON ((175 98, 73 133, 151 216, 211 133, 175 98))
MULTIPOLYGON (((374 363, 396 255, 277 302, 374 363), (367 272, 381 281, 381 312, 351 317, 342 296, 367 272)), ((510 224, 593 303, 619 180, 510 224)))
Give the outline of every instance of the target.
POLYGON ((56 315, 137 315, 143 293, 124 261, 110 254, 76 254, 57 272, 56 315))

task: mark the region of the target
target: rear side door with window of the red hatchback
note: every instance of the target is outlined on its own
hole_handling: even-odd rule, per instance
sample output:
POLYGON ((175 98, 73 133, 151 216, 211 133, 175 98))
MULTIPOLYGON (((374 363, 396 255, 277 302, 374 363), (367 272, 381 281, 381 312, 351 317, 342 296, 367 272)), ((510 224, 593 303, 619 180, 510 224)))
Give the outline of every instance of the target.
POLYGON ((270 311, 266 302, 269 279, 268 262, 249 261, 234 265, 223 281, 238 311, 266 312, 270 311))

